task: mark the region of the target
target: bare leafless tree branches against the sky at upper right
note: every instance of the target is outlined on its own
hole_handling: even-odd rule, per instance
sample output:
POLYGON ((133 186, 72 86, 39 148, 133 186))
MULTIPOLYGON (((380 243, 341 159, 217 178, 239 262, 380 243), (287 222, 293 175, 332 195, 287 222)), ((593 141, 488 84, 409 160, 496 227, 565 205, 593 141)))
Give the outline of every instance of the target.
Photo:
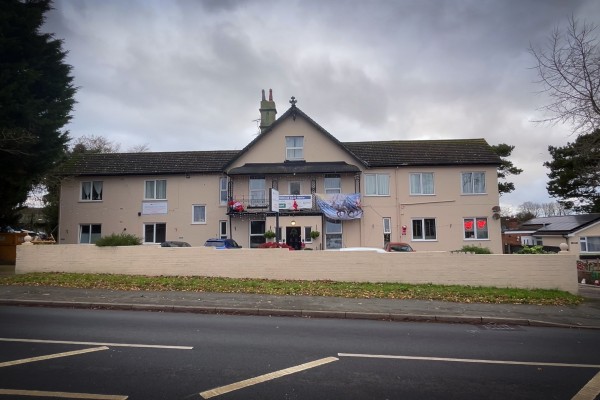
POLYGON ((546 46, 530 46, 539 81, 550 103, 550 115, 537 122, 570 123, 573 132, 600 127, 600 48, 597 25, 579 24, 571 17, 565 31, 556 28, 546 46))

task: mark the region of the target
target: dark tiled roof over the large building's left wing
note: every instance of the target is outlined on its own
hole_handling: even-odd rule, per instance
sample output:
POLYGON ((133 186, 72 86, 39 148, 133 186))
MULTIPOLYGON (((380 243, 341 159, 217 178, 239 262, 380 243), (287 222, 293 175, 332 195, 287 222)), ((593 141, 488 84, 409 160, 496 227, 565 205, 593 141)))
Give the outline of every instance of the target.
POLYGON ((179 151, 147 153, 96 153, 73 157, 60 175, 169 175, 222 173, 238 153, 229 151, 179 151))

